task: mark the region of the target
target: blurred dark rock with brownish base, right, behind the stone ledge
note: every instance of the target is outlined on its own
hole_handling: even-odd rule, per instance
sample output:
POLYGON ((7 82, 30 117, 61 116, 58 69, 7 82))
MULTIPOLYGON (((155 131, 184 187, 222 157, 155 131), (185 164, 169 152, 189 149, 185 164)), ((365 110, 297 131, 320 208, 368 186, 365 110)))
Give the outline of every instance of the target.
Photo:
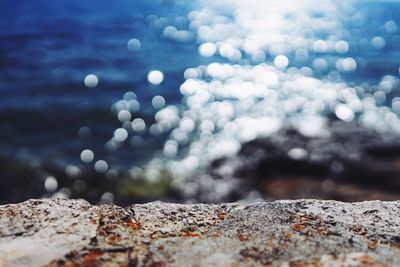
POLYGON ((258 191, 268 200, 400 199, 398 136, 344 122, 331 123, 328 132, 310 138, 284 128, 244 144, 237 157, 215 163, 214 176, 233 166, 233 176, 241 181, 237 199, 246 190, 258 191))

